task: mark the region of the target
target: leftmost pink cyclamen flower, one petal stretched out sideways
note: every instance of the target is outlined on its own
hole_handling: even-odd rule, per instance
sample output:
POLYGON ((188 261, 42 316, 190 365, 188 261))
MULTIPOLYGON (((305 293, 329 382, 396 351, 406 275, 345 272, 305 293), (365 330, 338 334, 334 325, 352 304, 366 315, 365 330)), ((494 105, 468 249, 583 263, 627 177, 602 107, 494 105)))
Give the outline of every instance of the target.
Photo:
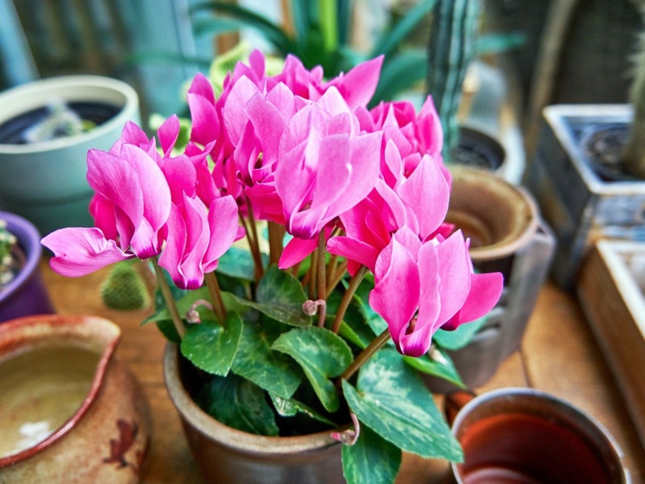
POLYGON ((59 274, 83 276, 119 260, 147 259, 161 252, 170 188, 155 159, 128 143, 133 134, 139 136, 126 125, 109 152, 88 153, 87 179, 96 192, 90 211, 97 227, 62 228, 43 238, 43 245, 54 252, 50 263, 59 274))

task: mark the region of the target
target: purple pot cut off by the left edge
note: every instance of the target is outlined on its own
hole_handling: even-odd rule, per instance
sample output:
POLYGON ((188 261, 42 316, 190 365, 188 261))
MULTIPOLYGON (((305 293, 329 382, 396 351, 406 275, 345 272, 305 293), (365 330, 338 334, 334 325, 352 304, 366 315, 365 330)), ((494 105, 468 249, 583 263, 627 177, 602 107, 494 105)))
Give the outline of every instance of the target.
POLYGON ((30 222, 8 212, 0 212, 9 232, 18 239, 26 263, 15 279, 0 290, 0 323, 8 319, 30 314, 53 314, 54 307, 49 299, 38 263, 43 253, 41 236, 30 222))

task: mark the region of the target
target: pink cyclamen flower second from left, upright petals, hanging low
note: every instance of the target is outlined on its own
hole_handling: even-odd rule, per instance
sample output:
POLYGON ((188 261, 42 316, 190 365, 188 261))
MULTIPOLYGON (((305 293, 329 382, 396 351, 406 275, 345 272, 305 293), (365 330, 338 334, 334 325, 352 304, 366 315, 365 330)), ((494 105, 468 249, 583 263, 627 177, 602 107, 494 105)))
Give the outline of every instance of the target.
POLYGON ((184 195, 172 205, 168 239, 159 265, 182 289, 197 289, 204 273, 217 268, 217 259, 239 238, 237 203, 232 196, 217 198, 207 209, 201 199, 184 195))

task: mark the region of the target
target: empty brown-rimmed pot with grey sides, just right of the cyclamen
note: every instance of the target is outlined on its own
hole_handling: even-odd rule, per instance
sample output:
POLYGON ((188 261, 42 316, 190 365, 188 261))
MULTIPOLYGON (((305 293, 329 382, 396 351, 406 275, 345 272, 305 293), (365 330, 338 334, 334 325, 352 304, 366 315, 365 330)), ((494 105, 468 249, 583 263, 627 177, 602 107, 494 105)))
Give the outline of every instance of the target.
MULTIPOLYGON (((481 272, 501 272, 504 292, 470 344, 448 350, 464 383, 478 387, 519 348, 554 249, 550 228, 521 187, 484 170, 452 166, 446 221, 470 237, 470 256, 481 272)), ((432 390, 454 389, 432 378, 432 390)))

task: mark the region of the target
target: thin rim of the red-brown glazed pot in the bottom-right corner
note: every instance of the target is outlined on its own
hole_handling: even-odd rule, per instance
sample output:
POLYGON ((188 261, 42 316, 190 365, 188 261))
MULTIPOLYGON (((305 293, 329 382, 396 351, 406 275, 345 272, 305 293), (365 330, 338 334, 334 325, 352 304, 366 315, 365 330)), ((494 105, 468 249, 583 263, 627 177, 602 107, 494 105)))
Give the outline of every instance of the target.
MULTIPOLYGON (((476 396, 471 399, 464 405, 464 407, 459 410, 455 420, 452 424, 452 434, 457 439, 457 433, 459 427, 461 427, 464 419, 473 411, 476 407, 479 407, 482 403, 486 403, 491 400, 497 399, 508 399, 515 396, 524 396, 533 399, 545 399, 551 403, 554 407, 561 410, 562 413, 572 416, 576 421, 582 423, 582 425, 588 425, 592 431, 596 430, 599 436, 601 436, 607 443, 608 448, 611 450, 613 457, 622 466, 622 460, 624 459, 624 452, 620 449, 617 441, 610 434, 602 423, 593 418, 590 414, 584 412, 575 405, 569 403, 568 401, 558 398, 557 396, 551 395, 550 393, 544 392, 542 390, 537 390, 537 388, 527 388, 527 387, 507 387, 507 388, 496 388, 495 390, 490 390, 488 392, 482 393, 481 395, 476 396)), ((450 463, 450 469, 452 470, 453 478, 457 484, 464 484, 461 474, 459 474, 459 469, 457 467, 459 463, 452 462, 450 463)), ((622 469, 622 484, 631 484, 630 472, 624 467, 622 469)))

